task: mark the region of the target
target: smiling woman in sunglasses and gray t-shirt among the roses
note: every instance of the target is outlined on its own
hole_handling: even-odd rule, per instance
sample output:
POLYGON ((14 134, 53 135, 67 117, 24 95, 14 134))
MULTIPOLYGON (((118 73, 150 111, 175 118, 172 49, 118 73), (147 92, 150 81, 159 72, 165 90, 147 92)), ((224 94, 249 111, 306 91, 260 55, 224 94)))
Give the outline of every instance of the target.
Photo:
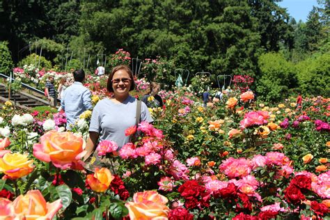
MULTIPOLYGON (((134 88, 132 70, 126 65, 113 68, 107 81, 107 90, 113 93, 113 97, 101 100, 93 109, 85 159, 91 156, 99 138, 100 141, 115 141, 118 148, 129 142, 129 136, 125 136, 125 129, 136 123, 137 100, 129 95, 129 91, 134 88)), ((148 123, 153 121, 148 107, 143 102, 140 118, 148 123)))

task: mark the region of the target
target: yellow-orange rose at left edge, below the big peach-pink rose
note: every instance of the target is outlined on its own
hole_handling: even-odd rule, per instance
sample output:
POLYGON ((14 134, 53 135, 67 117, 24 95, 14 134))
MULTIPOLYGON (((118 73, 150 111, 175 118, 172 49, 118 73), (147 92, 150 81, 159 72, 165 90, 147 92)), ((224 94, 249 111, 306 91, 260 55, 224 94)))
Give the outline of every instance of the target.
POLYGON ((22 178, 33 171, 33 159, 19 152, 6 153, 0 158, 0 172, 5 173, 10 179, 22 178))

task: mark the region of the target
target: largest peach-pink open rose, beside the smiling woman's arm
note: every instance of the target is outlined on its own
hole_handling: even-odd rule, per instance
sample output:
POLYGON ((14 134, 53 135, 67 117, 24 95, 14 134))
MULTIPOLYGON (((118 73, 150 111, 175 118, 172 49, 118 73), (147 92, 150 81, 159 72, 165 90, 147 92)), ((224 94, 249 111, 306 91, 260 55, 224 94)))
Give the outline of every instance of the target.
POLYGON ((33 156, 43 162, 52 162, 61 169, 82 170, 81 158, 86 154, 85 141, 71 132, 49 131, 33 145, 33 156))

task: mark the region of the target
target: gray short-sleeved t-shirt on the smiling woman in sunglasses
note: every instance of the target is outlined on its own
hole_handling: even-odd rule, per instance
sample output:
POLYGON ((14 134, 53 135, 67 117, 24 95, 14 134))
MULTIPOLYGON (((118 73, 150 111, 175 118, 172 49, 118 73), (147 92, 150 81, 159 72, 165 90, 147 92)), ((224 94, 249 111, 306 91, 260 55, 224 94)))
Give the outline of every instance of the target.
MULTIPOLYGON (((148 107, 141 103, 141 120, 151 123, 148 107)), ((123 103, 112 102, 109 98, 97 102, 93 109, 89 132, 100 134, 100 141, 115 141, 121 148, 129 142, 125 129, 136 123, 136 98, 129 95, 123 103)))

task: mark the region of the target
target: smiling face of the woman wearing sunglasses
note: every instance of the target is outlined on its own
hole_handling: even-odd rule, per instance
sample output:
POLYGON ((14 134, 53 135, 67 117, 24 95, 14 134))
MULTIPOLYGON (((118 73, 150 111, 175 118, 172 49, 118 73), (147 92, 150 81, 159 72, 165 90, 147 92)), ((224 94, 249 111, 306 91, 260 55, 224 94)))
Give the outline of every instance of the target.
POLYGON ((126 70, 118 70, 112 77, 112 88, 114 95, 125 96, 129 94, 129 88, 131 88, 132 79, 129 77, 126 70))

